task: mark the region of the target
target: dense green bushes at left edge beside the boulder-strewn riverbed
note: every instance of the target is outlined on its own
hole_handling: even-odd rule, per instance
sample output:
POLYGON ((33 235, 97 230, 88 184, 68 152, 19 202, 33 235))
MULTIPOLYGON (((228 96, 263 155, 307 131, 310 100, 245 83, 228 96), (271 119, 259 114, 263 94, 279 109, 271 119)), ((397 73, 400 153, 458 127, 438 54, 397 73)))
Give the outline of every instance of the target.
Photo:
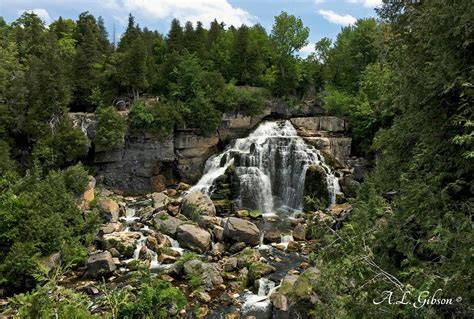
POLYGON ((63 261, 80 262, 92 242, 98 215, 83 216, 77 195, 87 184, 81 166, 51 171, 38 168, 12 181, 0 195, 0 285, 8 292, 31 288, 40 256, 62 253, 63 261))

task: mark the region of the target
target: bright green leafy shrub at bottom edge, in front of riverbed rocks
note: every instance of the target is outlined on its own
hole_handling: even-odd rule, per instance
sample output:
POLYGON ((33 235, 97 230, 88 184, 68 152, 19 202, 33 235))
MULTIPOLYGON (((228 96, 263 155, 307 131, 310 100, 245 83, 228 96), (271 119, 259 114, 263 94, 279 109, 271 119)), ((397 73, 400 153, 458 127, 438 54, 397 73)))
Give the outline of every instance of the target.
POLYGON ((186 306, 186 298, 169 282, 145 276, 136 300, 121 304, 117 318, 170 318, 186 306))

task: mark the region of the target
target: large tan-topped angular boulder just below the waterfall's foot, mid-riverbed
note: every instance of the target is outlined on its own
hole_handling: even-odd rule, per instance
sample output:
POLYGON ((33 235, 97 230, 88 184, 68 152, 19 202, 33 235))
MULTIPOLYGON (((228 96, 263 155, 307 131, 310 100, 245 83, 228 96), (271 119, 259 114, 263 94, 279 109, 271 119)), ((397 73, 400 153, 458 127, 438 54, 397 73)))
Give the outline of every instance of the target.
POLYGON ((224 237, 255 246, 260 243, 260 230, 252 222, 229 217, 224 227, 224 237))

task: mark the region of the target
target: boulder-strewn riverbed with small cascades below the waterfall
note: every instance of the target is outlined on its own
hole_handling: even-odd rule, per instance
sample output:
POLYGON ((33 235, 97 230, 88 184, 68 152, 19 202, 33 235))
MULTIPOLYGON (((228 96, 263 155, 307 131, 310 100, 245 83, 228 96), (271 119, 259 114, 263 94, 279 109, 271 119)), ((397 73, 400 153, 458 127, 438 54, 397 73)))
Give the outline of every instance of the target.
MULTIPOLYGON (((328 212, 263 217, 238 210, 216 215, 209 196, 189 185, 141 197, 89 189, 81 204, 85 215, 99 209, 106 221, 90 248, 86 264, 63 284, 92 300, 107 289, 138 289, 130 274, 148 268, 184 292, 188 306, 171 316, 188 318, 289 318, 316 303, 311 283, 318 270, 308 260, 317 251, 310 228, 315 219, 341 220, 350 205, 328 212)), ((99 304, 91 306, 102 311, 99 304)), ((304 313, 301 313, 304 317, 304 313)))

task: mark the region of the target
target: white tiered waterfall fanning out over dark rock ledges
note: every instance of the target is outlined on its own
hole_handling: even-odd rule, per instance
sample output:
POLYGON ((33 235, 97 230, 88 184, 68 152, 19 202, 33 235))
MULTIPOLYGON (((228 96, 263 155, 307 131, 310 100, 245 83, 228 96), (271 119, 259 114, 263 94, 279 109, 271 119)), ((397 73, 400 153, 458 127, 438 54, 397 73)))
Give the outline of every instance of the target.
POLYGON ((337 178, 323 156, 306 145, 289 121, 260 124, 248 137, 235 140, 206 162, 204 175, 191 191, 212 194, 214 180, 234 165, 240 183, 238 206, 272 214, 303 208, 306 170, 319 165, 327 172, 330 203, 339 191, 337 178))

